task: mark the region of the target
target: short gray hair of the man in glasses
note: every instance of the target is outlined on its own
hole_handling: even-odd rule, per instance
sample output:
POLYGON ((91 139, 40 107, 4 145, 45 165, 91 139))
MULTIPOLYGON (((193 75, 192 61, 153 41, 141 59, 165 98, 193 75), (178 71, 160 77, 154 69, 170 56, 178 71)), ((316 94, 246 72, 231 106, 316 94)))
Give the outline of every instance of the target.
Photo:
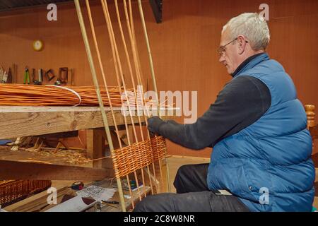
POLYGON ((228 29, 231 40, 239 35, 244 35, 254 51, 265 50, 269 45, 271 37, 269 27, 264 17, 258 13, 242 13, 240 16, 230 19, 224 25, 222 34, 228 29))

